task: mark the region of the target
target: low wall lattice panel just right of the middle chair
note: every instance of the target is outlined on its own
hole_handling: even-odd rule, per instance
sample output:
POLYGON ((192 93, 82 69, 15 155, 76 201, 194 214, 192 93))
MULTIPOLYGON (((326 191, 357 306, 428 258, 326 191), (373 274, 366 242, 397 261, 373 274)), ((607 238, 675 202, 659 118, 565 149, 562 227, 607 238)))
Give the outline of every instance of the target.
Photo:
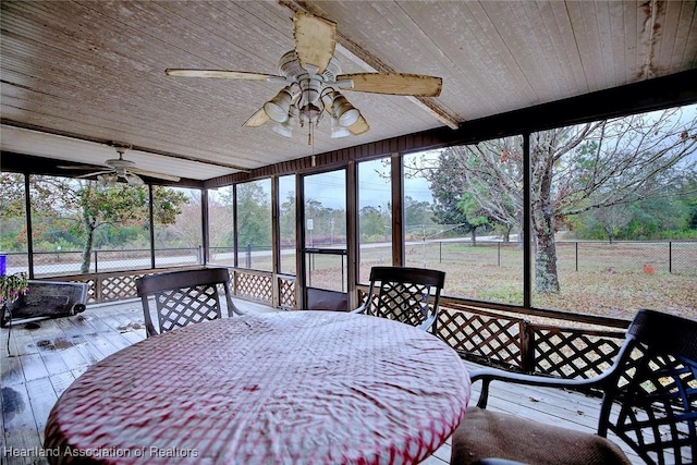
POLYGON ((519 321, 444 308, 438 335, 456 351, 522 367, 519 321))

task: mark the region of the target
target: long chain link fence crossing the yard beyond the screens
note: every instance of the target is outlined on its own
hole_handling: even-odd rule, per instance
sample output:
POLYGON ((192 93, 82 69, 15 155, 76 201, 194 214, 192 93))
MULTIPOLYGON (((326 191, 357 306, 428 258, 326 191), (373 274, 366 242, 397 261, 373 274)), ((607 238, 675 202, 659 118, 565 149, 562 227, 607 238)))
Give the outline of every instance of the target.
MULTIPOLYGON (((362 248, 362 260, 384 254, 390 244, 362 248)), ((425 241, 406 245, 406 265, 431 267, 437 264, 467 264, 497 267, 522 267, 523 249, 519 243, 469 240, 425 241)), ((271 264, 271 247, 249 245, 239 253, 241 267, 267 269, 271 264)), ((7 272, 28 271, 26 253, 7 256, 7 272)), ((211 264, 230 266, 233 250, 211 247, 211 264)), ((155 266, 186 266, 203 264, 203 248, 159 248, 155 250, 155 266)), ((148 269, 151 267, 149 249, 95 250, 90 256, 89 272, 148 269)), ((80 273, 82 253, 34 253, 34 277, 54 277, 80 273)), ((560 271, 644 272, 697 276, 697 241, 668 242, 557 242, 557 266, 560 271)))

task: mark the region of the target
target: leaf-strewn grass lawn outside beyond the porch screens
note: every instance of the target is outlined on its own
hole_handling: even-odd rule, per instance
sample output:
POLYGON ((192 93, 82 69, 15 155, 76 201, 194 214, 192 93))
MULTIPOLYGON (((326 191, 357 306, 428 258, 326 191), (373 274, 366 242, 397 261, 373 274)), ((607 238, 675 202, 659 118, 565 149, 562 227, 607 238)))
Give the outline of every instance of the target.
MULTIPOLYGON (((534 293, 533 306, 625 319, 639 308, 653 308, 697 318, 697 242, 675 242, 670 247, 559 242, 561 292, 534 293)), ((267 269, 265 260, 270 269, 269 258, 256 258, 254 268, 267 269)), ((359 281, 367 283, 371 267, 391 260, 389 245, 362 248, 359 281)), ((445 271, 444 295, 523 304, 523 252, 517 244, 416 243, 406 247, 406 266, 445 271)), ((315 255, 308 269, 313 286, 345 291, 345 257, 315 255)))

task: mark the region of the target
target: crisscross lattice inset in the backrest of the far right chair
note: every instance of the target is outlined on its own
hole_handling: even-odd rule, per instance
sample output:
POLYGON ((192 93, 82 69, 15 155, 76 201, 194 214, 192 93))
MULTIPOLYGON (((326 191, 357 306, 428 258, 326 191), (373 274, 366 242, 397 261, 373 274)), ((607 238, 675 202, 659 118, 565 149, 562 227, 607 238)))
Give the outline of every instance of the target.
POLYGON ((648 450, 653 463, 694 463, 697 458, 697 365, 636 345, 617 380, 621 397, 610 429, 648 450), (646 355, 641 357, 643 355, 646 355))

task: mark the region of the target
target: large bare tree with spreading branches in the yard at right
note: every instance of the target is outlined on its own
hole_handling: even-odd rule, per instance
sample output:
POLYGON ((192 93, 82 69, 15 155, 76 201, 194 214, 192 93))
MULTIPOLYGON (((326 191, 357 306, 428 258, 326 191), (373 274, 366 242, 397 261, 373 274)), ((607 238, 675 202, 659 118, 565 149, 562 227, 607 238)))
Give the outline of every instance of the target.
MULTIPOLYGON (((570 216, 655 198, 696 175, 695 108, 670 109, 530 135, 530 211, 535 287, 560 291, 554 233, 570 216)), ((521 137, 450 147, 430 179, 462 180, 482 209, 519 228, 523 211, 521 137), (438 175, 436 173, 439 173, 438 175)), ((424 167, 421 167, 424 169, 424 167)))

